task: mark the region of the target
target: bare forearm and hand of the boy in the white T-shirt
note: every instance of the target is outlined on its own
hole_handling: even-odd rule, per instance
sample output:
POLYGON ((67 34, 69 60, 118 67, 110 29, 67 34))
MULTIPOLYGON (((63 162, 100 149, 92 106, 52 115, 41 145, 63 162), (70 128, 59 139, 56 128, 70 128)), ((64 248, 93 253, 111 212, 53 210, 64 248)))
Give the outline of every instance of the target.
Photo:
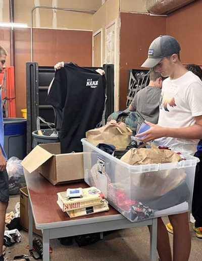
POLYGON ((162 137, 171 137, 178 139, 202 139, 202 115, 194 117, 195 124, 183 128, 161 127, 158 124, 153 124, 145 120, 145 123, 150 126, 150 129, 135 137, 145 136, 141 139, 143 142, 156 140, 162 137))

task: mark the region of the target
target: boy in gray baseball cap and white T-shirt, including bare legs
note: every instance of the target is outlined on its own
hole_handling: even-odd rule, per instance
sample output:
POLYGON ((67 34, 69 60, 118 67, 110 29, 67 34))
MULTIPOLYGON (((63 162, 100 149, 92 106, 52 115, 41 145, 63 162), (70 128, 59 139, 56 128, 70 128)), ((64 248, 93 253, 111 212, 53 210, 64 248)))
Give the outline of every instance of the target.
MULTIPOLYGON (((148 58, 142 67, 154 67, 163 81, 158 124, 136 137, 143 142, 155 140, 157 146, 169 147, 182 154, 194 155, 202 138, 202 82, 180 61, 180 45, 175 38, 162 35, 156 38, 148 50, 148 58)), ((188 261, 191 238, 188 212, 169 216, 173 227, 173 260, 188 261)), ((202 221, 201 221, 202 222, 202 221)), ((162 261, 172 260, 170 242, 162 219, 158 219, 158 252, 162 261)))

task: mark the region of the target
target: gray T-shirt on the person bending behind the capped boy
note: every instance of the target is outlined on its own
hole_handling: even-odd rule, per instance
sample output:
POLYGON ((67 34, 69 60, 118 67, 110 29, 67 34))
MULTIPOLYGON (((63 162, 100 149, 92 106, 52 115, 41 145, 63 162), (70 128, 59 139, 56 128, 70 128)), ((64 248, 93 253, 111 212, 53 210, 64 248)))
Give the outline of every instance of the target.
POLYGON ((158 123, 160 96, 161 89, 152 86, 146 86, 135 95, 131 105, 141 118, 138 120, 137 132, 143 120, 158 123))

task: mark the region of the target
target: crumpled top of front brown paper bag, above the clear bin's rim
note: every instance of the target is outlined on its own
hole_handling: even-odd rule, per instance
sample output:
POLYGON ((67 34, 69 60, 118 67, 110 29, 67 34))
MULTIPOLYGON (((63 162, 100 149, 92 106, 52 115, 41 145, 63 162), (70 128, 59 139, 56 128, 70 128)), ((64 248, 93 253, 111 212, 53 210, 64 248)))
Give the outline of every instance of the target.
MULTIPOLYGON (((154 144, 148 144, 150 149, 145 149, 140 146, 137 149, 130 149, 121 157, 121 160, 130 165, 158 164, 178 162, 181 159, 180 155, 171 150, 160 150, 154 144)), ((145 144, 143 144, 145 146, 145 144)))

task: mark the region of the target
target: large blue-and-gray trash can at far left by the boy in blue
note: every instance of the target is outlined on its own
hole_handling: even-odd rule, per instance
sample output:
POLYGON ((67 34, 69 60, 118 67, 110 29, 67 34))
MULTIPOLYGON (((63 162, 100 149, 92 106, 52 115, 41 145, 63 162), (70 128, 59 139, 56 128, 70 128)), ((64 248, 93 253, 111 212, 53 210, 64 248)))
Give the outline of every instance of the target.
POLYGON ((24 118, 4 118, 4 150, 8 158, 24 159, 27 155, 27 120, 24 118))

